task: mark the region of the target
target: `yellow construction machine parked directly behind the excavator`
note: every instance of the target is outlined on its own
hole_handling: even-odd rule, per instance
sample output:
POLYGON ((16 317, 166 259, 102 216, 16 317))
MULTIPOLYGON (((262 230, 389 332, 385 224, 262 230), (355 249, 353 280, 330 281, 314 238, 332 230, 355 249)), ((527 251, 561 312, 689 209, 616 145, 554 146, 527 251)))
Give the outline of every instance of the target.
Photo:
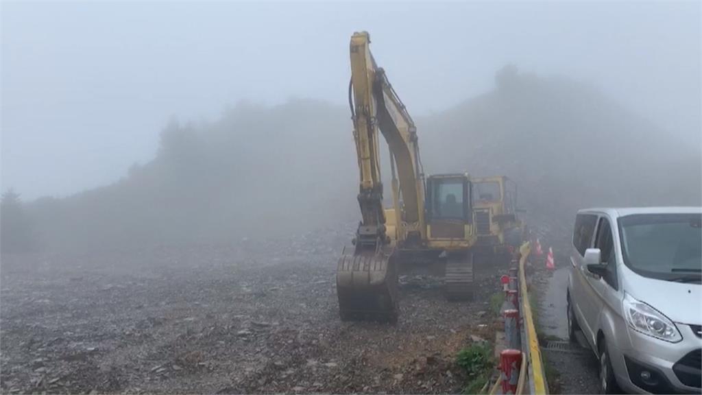
POLYGON ((476 247, 505 263, 522 244, 526 225, 517 212, 517 184, 506 176, 472 178, 476 247))

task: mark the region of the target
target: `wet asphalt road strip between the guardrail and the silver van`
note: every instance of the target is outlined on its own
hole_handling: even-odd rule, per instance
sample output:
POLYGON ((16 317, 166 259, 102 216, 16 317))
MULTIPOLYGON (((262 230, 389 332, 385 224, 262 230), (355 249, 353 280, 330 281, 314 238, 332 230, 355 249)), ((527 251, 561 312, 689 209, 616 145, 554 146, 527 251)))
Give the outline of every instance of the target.
MULTIPOLYGON (((543 284, 534 287, 538 292, 537 325, 543 337, 553 342, 568 342, 566 320, 566 291, 568 266, 559 266, 555 271, 544 273, 543 284)), ((541 276, 539 276, 541 277, 541 276)), ((541 283, 540 281, 540 283, 541 283)), ((550 383, 552 391, 560 394, 597 394, 598 363, 595 354, 585 346, 585 338, 579 334, 581 344, 571 344, 569 351, 545 348, 542 355, 550 370, 555 372, 550 383)))

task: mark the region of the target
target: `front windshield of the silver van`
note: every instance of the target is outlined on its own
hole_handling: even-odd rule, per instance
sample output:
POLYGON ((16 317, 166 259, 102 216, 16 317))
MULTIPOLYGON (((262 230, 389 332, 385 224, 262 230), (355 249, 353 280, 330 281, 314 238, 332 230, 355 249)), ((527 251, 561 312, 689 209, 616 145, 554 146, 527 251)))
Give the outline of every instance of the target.
POLYGON ((699 283, 702 214, 635 214, 618 220, 624 263, 651 278, 699 283))

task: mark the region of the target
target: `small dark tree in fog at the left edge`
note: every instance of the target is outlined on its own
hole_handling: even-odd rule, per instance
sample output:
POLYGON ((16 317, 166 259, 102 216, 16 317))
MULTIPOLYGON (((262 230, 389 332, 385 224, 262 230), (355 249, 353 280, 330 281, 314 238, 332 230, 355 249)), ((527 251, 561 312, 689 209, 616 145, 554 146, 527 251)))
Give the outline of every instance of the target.
POLYGON ((0 197, 0 252, 17 254, 36 247, 34 232, 20 194, 10 189, 0 197))

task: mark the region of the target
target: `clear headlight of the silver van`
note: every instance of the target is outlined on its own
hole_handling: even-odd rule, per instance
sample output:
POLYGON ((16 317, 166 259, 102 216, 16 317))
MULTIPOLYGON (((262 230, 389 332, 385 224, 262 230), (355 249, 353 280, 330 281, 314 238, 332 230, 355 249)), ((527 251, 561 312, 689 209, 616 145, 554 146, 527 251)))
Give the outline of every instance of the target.
POLYGON ((626 321, 634 330, 666 342, 677 343, 682 340, 682 335, 673 321, 648 304, 634 299, 630 294, 625 294, 624 311, 626 321))

